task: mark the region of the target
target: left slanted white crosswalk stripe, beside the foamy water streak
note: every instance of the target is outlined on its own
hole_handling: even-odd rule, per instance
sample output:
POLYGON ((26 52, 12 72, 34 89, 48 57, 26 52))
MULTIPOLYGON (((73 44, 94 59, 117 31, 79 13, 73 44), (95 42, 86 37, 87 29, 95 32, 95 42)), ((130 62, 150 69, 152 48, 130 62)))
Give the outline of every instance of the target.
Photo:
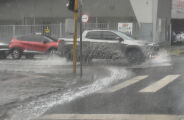
POLYGON ((132 84, 135 84, 135 83, 137 83, 137 82, 139 82, 139 81, 141 81, 141 80, 143 80, 143 79, 145 79, 147 77, 148 77, 148 75, 136 76, 133 79, 124 81, 124 82, 122 82, 122 83, 120 83, 118 85, 115 85, 115 86, 111 87, 111 88, 108 88, 108 89, 105 89, 105 90, 101 90, 98 93, 112 93, 112 92, 116 92, 116 91, 121 90, 123 88, 126 88, 126 87, 128 87, 128 86, 130 86, 132 84))

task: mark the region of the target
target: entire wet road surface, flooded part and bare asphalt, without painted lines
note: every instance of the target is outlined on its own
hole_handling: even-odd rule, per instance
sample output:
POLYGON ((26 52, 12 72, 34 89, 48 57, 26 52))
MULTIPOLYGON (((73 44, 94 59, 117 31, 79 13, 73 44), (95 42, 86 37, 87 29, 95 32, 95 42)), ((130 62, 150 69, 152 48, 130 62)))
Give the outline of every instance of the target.
POLYGON ((79 113, 183 115, 183 61, 183 56, 155 59, 140 66, 95 61, 84 66, 86 74, 80 79, 72 76, 72 63, 61 58, 3 60, 1 119, 79 113), (156 92, 140 92, 168 75, 178 78, 168 85, 163 83, 156 92), (123 85, 137 76, 146 78, 123 85), (115 91, 105 92, 114 86, 115 91))

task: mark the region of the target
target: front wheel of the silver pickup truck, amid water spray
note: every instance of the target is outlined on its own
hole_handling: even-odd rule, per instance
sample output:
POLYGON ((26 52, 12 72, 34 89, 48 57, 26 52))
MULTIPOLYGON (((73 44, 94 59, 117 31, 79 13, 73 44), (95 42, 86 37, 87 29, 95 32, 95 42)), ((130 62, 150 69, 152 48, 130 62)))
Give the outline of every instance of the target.
POLYGON ((145 60, 143 53, 137 49, 127 51, 126 57, 130 64, 141 64, 145 60))

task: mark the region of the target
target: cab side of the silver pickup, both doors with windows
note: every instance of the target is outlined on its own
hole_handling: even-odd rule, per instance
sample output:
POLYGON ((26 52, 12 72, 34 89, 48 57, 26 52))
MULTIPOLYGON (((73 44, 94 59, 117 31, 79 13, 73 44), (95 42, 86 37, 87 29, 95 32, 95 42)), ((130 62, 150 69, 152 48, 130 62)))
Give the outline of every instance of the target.
POLYGON ((118 36, 110 31, 91 31, 86 35, 86 41, 90 41, 90 51, 93 58, 111 59, 120 53, 118 36))

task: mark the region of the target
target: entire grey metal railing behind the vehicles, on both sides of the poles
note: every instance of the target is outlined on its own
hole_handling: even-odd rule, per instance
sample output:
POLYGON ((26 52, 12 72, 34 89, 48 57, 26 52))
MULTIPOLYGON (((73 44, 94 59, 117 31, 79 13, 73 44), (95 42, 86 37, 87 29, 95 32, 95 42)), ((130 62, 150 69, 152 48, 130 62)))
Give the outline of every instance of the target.
MULTIPOLYGON (((86 23, 83 30, 113 29, 117 30, 117 24, 108 23, 86 23)), ((73 34, 65 32, 64 24, 49 25, 0 25, 0 42, 9 43, 14 36, 30 34, 47 34, 55 38, 71 37, 73 34)), ((78 33, 79 34, 79 33, 78 33)))

